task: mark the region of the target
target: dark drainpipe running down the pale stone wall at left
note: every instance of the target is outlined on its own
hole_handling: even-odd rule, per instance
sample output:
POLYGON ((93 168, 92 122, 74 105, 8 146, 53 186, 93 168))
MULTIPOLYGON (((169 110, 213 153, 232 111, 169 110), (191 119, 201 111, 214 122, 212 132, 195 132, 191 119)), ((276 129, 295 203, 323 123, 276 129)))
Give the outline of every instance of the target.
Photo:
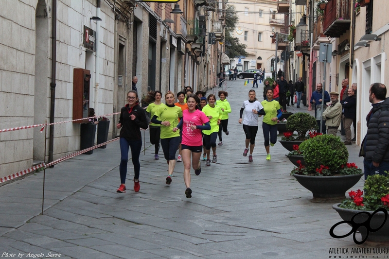
MULTIPOLYGON (((52 82, 50 83, 50 123, 54 123, 55 108, 55 72, 56 72, 56 50, 57 50, 57 0, 52 3, 52 82)), ((46 136, 45 136, 46 138, 46 136)), ((54 125, 50 125, 49 133, 49 162, 53 161, 54 152, 54 125)), ((46 154, 45 154, 46 155, 46 154)), ((52 168, 54 166, 51 166, 52 168)))

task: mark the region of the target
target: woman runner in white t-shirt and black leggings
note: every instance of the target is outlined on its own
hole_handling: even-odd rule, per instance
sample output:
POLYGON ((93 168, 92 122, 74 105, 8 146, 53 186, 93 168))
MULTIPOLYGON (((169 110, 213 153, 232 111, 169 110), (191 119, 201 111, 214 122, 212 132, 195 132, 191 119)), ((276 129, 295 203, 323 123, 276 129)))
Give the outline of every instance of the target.
POLYGON ((239 123, 242 124, 243 130, 246 134, 246 148, 243 152, 243 156, 247 156, 248 143, 250 143, 250 154, 248 155, 248 162, 252 162, 252 152, 255 146, 255 137, 258 131, 258 113, 264 115, 263 106, 255 98, 255 91, 253 89, 248 91, 248 100, 243 102, 240 110, 239 123), (262 110, 262 111, 261 111, 262 110), (242 120, 243 111, 245 111, 245 118, 242 120))

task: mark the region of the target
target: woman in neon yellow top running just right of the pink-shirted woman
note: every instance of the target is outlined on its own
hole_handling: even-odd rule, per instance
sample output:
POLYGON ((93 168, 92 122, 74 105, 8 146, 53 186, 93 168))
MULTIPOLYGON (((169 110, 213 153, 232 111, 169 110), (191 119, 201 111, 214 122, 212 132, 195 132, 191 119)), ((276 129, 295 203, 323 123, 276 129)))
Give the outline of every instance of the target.
POLYGON ((210 119, 211 130, 203 130, 204 134, 204 142, 205 142, 205 153, 207 154, 207 162, 206 166, 211 165, 211 147, 212 147, 212 163, 217 162, 216 155, 216 138, 217 133, 219 132, 219 124, 222 119, 222 109, 216 105, 216 97, 213 94, 208 96, 208 104, 204 106, 202 112, 207 115, 208 119, 210 119))

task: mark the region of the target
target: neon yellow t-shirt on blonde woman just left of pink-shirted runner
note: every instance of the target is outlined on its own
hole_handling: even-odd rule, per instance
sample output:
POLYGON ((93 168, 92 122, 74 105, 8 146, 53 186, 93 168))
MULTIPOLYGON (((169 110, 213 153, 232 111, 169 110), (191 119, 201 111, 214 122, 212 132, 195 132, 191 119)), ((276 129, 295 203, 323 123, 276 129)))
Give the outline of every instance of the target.
POLYGON ((155 113, 159 121, 169 121, 170 126, 161 125, 160 138, 174 138, 179 137, 179 130, 173 131, 173 128, 178 125, 178 118, 182 117, 182 110, 178 106, 169 107, 167 105, 160 107, 155 113))

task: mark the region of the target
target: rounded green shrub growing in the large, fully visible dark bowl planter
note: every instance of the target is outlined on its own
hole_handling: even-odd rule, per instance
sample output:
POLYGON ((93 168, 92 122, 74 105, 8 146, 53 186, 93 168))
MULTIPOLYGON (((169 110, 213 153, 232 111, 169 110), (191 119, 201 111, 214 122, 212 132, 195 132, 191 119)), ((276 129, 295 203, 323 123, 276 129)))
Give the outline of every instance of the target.
POLYGON ((315 138, 309 138, 301 145, 300 149, 304 153, 305 164, 309 171, 315 172, 323 165, 328 167, 330 172, 336 172, 347 163, 349 158, 346 146, 340 138, 333 135, 319 135, 315 138))

